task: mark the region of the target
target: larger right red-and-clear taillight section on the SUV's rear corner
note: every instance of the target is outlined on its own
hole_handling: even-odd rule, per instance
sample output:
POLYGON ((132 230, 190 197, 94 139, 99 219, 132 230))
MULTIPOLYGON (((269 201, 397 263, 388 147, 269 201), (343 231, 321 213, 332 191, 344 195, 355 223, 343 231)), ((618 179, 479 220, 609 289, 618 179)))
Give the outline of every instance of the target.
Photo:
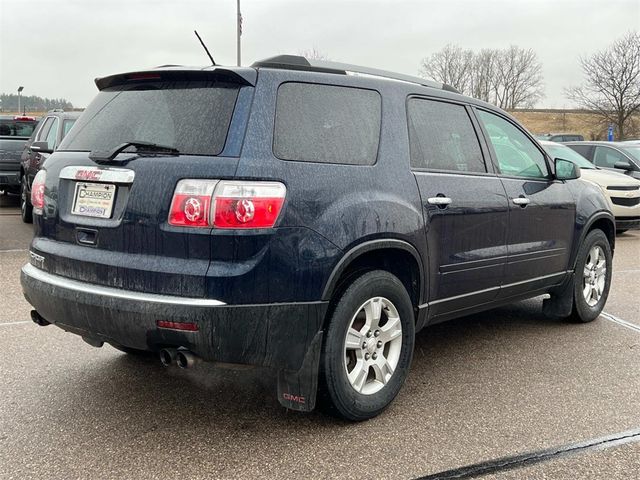
POLYGON ((271 228, 275 225, 286 188, 277 182, 220 182, 213 205, 216 228, 271 228))

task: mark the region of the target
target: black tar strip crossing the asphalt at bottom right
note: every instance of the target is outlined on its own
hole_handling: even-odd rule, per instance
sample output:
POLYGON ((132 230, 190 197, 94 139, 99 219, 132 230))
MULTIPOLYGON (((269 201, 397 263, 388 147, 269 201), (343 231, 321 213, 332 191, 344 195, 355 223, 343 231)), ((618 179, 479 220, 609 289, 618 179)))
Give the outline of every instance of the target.
POLYGON ((526 467, 535 463, 557 460, 569 455, 578 455, 594 450, 605 450, 607 448, 617 447, 618 445, 635 442, 640 442, 640 428, 628 430, 626 432, 614 433, 613 435, 594 438, 591 440, 586 440, 584 442, 570 443, 558 447, 551 447, 544 450, 514 455, 512 457, 502 457, 486 462, 474 463, 465 467, 445 470, 443 472, 434 473, 432 475, 419 477, 416 480, 476 478, 492 473, 526 467))

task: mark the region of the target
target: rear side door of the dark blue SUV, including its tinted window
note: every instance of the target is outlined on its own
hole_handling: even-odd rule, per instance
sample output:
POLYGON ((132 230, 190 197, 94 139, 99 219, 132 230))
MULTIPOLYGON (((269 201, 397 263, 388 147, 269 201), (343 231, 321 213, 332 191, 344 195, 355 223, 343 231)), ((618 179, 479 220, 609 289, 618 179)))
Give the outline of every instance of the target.
POLYGON ((429 258, 430 316, 464 310, 498 294, 506 262, 508 205, 467 106, 407 101, 411 168, 418 184, 429 258))

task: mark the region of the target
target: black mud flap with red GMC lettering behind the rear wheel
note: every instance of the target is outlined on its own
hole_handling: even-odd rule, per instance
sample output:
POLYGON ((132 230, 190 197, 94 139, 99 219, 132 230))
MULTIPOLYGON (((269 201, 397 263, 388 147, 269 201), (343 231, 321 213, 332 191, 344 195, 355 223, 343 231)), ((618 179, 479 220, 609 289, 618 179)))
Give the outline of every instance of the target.
POLYGON ((316 333, 298 371, 278 371, 278 401, 283 407, 310 412, 316 406, 322 332, 316 333))

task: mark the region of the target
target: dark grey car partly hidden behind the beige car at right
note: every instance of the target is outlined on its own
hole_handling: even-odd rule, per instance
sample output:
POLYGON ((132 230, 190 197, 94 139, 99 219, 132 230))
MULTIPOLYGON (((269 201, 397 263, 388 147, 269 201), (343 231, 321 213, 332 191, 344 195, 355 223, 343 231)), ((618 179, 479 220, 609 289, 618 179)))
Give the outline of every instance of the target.
POLYGON ((572 142, 566 145, 597 167, 640 179, 640 145, 625 142, 572 142))

